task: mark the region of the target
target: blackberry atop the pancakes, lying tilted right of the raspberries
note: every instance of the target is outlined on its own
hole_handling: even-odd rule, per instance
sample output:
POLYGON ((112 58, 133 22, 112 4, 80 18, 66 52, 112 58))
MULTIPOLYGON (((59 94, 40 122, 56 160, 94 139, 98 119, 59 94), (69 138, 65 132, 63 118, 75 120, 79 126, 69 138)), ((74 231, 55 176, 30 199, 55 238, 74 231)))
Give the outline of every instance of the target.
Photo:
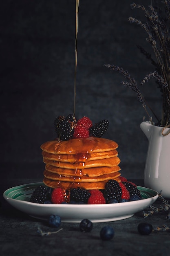
POLYGON ((106 119, 99 121, 99 123, 95 124, 89 129, 89 132, 92 136, 100 138, 108 130, 108 124, 108 120, 106 119))

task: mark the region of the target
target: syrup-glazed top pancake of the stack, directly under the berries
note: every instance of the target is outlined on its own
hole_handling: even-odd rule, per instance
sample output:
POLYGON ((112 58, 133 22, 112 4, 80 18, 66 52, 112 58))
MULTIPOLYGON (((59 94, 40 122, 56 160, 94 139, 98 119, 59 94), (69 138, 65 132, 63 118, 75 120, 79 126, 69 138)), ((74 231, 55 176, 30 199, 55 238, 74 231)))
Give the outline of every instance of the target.
POLYGON ((58 141, 55 139, 53 141, 46 141, 41 145, 43 151, 55 155, 91 154, 115 150, 116 148, 118 148, 118 144, 115 141, 97 137, 77 138, 67 141, 58 141))

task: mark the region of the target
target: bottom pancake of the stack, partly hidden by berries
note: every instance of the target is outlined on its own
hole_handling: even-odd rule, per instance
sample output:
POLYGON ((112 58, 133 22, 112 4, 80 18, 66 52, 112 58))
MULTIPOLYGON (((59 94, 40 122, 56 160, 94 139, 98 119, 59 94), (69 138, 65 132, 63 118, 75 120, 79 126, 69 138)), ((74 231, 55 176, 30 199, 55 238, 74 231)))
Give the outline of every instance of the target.
MULTIPOLYGON (((119 177, 114 178, 114 180, 117 180, 117 182, 120 182, 121 180, 119 177)), ((44 177, 43 182, 46 186, 49 186, 51 188, 56 188, 57 186, 60 186, 64 189, 71 189, 71 188, 83 188, 83 189, 105 189, 105 185, 108 182, 108 180, 100 181, 100 182, 58 182, 55 180, 48 179, 44 177)))

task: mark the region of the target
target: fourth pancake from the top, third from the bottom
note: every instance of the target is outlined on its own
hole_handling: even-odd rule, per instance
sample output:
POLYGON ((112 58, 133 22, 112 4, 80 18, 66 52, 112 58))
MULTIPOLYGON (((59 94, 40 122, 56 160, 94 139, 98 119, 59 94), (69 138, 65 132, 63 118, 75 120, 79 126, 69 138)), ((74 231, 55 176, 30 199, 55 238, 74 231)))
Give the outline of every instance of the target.
POLYGON ((61 175, 68 176, 76 175, 76 177, 81 177, 82 175, 86 175, 89 177, 97 177, 103 174, 115 173, 117 171, 120 171, 120 167, 118 165, 113 167, 103 166, 94 168, 84 168, 83 170, 77 169, 76 171, 73 169, 55 167, 49 164, 46 164, 45 168, 47 171, 50 171, 52 173, 58 173, 61 175))

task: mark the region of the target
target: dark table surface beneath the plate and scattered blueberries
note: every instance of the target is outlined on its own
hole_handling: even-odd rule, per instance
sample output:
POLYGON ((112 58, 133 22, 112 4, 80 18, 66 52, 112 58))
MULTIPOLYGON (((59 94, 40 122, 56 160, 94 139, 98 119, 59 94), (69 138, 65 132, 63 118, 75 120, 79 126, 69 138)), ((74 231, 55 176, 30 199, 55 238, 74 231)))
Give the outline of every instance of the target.
MULTIPOLYGON (((144 186, 142 180, 132 180, 139 186, 144 186)), ((170 231, 153 231, 144 236, 138 233, 137 226, 141 222, 149 222, 153 229, 167 225, 168 212, 158 212, 144 218, 143 212, 136 213, 131 218, 113 222, 93 223, 90 233, 79 231, 79 223, 61 223, 62 230, 57 234, 41 236, 37 230, 40 227, 45 232, 56 230, 46 222, 31 218, 25 213, 13 208, 2 193, 13 186, 41 182, 37 179, 1 180, 0 186, 0 255, 82 255, 82 256, 169 256, 170 231), (103 241, 99 232, 102 227, 110 225, 115 230, 112 240, 103 241)), ((154 203, 159 207, 160 201, 154 203)), ((148 212, 149 209, 146 209, 148 212)), ((59 229, 59 228, 57 228, 59 229)))

